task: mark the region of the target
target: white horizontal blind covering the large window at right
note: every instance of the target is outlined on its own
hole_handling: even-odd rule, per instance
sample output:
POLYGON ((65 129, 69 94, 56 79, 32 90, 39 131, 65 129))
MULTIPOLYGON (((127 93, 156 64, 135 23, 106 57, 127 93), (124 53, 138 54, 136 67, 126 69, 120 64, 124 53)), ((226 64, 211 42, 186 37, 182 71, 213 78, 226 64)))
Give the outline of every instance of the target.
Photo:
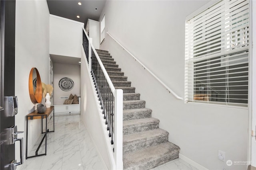
POLYGON ((185 102, 248 105, 248 0, 221 0, 186 21, 185 102))

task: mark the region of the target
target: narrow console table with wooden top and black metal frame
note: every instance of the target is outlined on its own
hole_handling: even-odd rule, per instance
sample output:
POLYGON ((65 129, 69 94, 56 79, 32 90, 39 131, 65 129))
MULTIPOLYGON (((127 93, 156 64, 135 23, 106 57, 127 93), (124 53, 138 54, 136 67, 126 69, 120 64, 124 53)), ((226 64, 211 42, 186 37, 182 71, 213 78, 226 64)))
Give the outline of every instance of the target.
POLYGON ((48 132, 54 132, 54 106, 51 106, 49 108, 46 108, 46 111, 44 113, 38 113, 37 110, 33 111, 32 113, 29 113, 28 115, 26 115, 26 120, 27 120, 27 127, 26 127, 26 159, 28 158, 33 158, 36 156, 42 156, 42 155, 46 155, 46 145, 47 145, 47 133, 48 132), (49 115, 52 113, 53 111, 53 131, 49 131, 49 129, 47 129, 47 118, 49 117, 49 115), (43 119, 45 118, 45 132, 43 132, 43 119), (36 154, 34 156, 28 156, 28 120, 33 120, 33 119, 42 119, 42 134, 44 134, 43 139, 41 140, 38 148, 36 149, 36 154), (43 141, 45 138, 45 153, 44 154, 38 154, 38 150, 40 149, 43 141))

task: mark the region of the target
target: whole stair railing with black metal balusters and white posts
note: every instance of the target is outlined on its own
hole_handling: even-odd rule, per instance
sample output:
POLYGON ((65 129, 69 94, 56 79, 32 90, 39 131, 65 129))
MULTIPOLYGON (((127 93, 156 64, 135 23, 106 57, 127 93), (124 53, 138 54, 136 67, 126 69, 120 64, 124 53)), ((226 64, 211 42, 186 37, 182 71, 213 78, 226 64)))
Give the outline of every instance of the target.
POLYGON ((92 80, 107 125, 110 144, 113 145, 115 165, 113 169, 123 169, 123 90, 115 89, 100 57, 83 28, 83 46, 86 60, 91 70, 92 80))

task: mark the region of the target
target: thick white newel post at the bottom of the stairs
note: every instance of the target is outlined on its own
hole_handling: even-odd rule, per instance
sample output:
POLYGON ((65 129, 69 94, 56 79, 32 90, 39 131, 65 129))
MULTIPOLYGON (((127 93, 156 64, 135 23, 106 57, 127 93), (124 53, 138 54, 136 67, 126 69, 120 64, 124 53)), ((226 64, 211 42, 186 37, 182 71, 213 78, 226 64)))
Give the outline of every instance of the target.
POLYGON ((116 169, 123 169, 123 90, 115 90, 114 160, 116 169))

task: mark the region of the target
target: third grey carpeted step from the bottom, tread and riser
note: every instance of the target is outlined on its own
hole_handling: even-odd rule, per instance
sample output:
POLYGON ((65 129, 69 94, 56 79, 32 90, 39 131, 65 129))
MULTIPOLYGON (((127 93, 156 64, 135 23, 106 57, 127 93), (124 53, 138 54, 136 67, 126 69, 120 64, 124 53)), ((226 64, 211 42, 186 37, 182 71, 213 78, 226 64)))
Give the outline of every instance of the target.
POLYGON ((159 128, 159 120, 153 117, 123 121, 123 134, 128 135, 159 128))

